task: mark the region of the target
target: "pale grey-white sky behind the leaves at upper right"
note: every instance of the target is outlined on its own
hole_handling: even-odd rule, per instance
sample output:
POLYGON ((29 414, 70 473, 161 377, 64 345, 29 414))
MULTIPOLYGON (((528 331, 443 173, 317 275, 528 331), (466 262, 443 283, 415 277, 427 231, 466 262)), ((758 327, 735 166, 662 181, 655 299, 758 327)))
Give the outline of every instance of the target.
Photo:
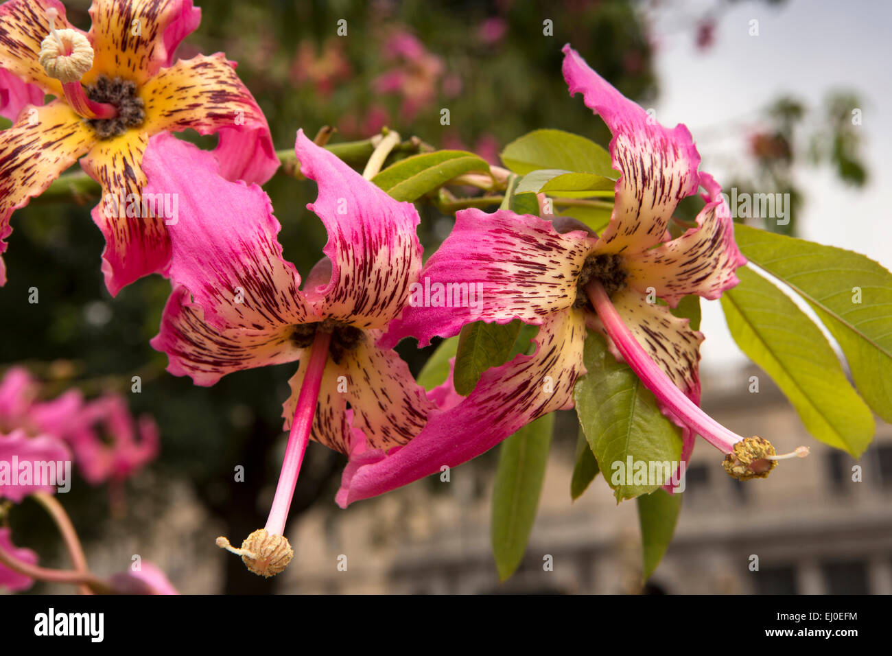
MULTIPOLYGON (((855 190, 829 168, 800 167, 796 179, 805 207, 797 237, 863 253, 892 270, 892 2, 730 4, 718 17, 714 45, 705 52, 695 46, 690 17, 704 15, 715 3, 662 4, 648 12, 657 39, 657 120, 665 126, 687 125, 703 156, 701 169, 720 182, 731 178, 729 161, 735 154, 746 152, 746 126, 755 126, 760 111, 779 95, 795 95, 815 107, 840 88, 863 98, 860 129, 870 180, 855 190), (752 20, 759 21, 756 37, 749 35, 752 20)), ((702 368, 718 373, 746 362, 719 302, 702 305, 702 368)))

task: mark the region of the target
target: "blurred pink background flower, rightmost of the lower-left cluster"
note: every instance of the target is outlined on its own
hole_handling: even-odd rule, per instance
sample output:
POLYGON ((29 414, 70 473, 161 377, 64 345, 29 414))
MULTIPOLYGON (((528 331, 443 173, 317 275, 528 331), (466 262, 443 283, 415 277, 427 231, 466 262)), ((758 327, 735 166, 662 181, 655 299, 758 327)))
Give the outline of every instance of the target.
POLYGON ((120 394, 87 403, 64 436, 81 476, 95 486, 130 477, 158 455, 154 420, 145 415, 135 419, 120 394))

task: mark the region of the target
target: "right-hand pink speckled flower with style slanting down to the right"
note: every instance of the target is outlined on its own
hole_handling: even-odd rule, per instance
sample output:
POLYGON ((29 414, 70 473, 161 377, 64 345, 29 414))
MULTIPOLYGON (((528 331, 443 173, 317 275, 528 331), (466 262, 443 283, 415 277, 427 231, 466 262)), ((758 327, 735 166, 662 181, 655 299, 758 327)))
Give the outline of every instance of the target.
MULTIPOLYGON (((561 218, 549 221, 507 210, 457 213, 455 228, 421 278, 432 287, 481 285, 480 302, 467 307, 411 303, 382 345, 415 336, 424 346, 434 336, 457 335, 471 321, 519 319, 540 327, 536 352, 487 370, 464 399, 447 394, 451 407, 432 417, 399 452, 358 459, 343 478, 338 495, 343 505, 470 460, 525 423, 572 407, 574 384, 585 373, 586 326, 607 337, 617 359, 629 364, 665 415, 681 427, 683 461, 690 457, 695 435, 725 453, 724 469, 743 480, 767 476, 786 457, 778 456, 767 440, 739 436, 700 410, 703 335, 670 311, 685 295, 717 299, 738 283, 735 270, 746 260, 734 242, 721 187, 698 172, 700 156, 687 128, 659 125, 569 46, 564 54, 571 95, 581 92, 613 134, 610 154, 621 176, 610 222, 596 236, 581 222, 561 218), (697 228, 670 238, 667 227, 676 205, 698 187, 706 190, 706 204, 697 228), (653 301, 659 297, 667 305, 648 302, 652 294, 653 301)), ((800 447, 795 455, 805 453, 800 447)))

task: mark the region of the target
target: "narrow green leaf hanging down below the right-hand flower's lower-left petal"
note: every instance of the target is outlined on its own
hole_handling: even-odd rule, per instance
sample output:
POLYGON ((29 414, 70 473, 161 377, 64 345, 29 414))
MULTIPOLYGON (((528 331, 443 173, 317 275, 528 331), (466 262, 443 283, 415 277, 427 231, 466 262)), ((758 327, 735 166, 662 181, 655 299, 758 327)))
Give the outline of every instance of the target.
POLYGON ((492 488, 492 554, 501 581, 524 559, 533 530, 545 466, 549 459, 554 413, 536 419, 502 442, 492 488))

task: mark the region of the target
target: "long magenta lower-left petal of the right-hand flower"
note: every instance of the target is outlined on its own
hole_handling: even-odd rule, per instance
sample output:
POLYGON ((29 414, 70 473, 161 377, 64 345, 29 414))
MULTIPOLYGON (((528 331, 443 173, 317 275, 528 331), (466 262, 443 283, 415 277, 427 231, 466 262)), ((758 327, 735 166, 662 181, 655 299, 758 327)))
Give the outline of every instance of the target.
MULTIPOLYGON (((344 470, 337 502, 342 507, 384 494, 419 478, 455 467, 489 451, 518 428, 551 411, 570 407, 584 373, 583 313, 568 309, 542 323, 533 355, 517 355, 483 372, 474 392, 447 411, 434 411, 425 428, 385 454, 359 448, 359 466, 344 470)), ((352 457, 353 454, 351 454, 352 457)))

